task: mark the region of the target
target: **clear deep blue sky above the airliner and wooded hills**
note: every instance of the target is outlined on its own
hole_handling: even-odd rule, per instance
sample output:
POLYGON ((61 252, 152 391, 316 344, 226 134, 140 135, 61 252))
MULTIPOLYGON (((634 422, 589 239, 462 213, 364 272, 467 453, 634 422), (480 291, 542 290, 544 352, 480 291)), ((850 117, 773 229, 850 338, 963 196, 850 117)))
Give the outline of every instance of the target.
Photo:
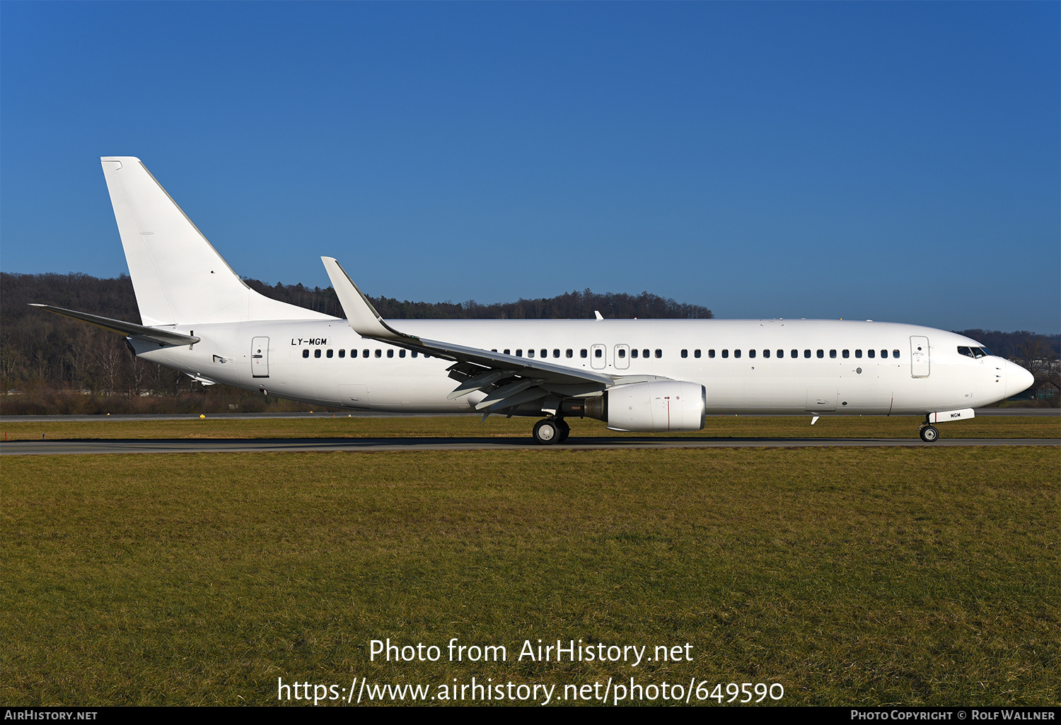
MULTIPOLYGON (((1061 331, 1057 2, 0 3, 0 269, 1061 331)), ((48 300, 40 300, 48 302, 48 300)))

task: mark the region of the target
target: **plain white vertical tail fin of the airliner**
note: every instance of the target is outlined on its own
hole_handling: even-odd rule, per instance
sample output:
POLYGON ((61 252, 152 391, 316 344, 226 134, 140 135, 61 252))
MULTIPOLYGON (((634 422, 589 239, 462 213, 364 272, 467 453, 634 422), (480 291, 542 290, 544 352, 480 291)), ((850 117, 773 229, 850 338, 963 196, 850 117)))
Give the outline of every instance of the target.
POLYGON ((140 159, 100 161, 143 324, 334 319, 248 287, 140 159))

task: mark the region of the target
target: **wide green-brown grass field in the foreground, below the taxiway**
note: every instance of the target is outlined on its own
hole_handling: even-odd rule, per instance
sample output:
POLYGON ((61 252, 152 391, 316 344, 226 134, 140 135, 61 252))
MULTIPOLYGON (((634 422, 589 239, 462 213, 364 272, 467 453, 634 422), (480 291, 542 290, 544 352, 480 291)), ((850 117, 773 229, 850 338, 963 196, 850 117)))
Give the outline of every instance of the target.
POLYGON ((475 677, 555 684, 570 704, 564 686, 633 677, 778 683, 789 705, 1057 705, 1059 462, 1031 447, 5 457, 0 702, 275 704, 278 677, 430 695, 475 677), (386 638, 441 657, 370 661, 386 638), (507 660, 449 661, 451 638, 507 660), (538 639, 649 656, 689 642, 691 660, 519 660, 538 639))

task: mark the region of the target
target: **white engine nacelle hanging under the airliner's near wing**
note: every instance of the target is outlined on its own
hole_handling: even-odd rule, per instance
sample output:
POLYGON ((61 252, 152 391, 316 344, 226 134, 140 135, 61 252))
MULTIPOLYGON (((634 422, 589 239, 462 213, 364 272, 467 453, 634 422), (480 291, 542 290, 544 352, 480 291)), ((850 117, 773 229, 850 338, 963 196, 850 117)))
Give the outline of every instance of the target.
POLYGON ((702 385, 682 381, 632 383, 609 388, 612 430, 700 430, 708 410, 702 385))

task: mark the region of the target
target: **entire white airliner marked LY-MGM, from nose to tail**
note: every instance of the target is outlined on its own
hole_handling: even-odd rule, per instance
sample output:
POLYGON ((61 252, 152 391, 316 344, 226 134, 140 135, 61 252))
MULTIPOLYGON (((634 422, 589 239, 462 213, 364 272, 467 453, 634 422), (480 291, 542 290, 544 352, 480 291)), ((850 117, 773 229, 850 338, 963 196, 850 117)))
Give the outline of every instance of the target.
POLYGON ((571 418, 613 430, 699 430, 707 413, 924 415, 934 423, 1028 388, 1026 370, 930 328, 847 320, 383 320, 321 258, 348 319, 277 302, 232 271, 139 159, 103 173, 142 324, 37 305, 124 335, 204 385, 397 412, 571 418))

